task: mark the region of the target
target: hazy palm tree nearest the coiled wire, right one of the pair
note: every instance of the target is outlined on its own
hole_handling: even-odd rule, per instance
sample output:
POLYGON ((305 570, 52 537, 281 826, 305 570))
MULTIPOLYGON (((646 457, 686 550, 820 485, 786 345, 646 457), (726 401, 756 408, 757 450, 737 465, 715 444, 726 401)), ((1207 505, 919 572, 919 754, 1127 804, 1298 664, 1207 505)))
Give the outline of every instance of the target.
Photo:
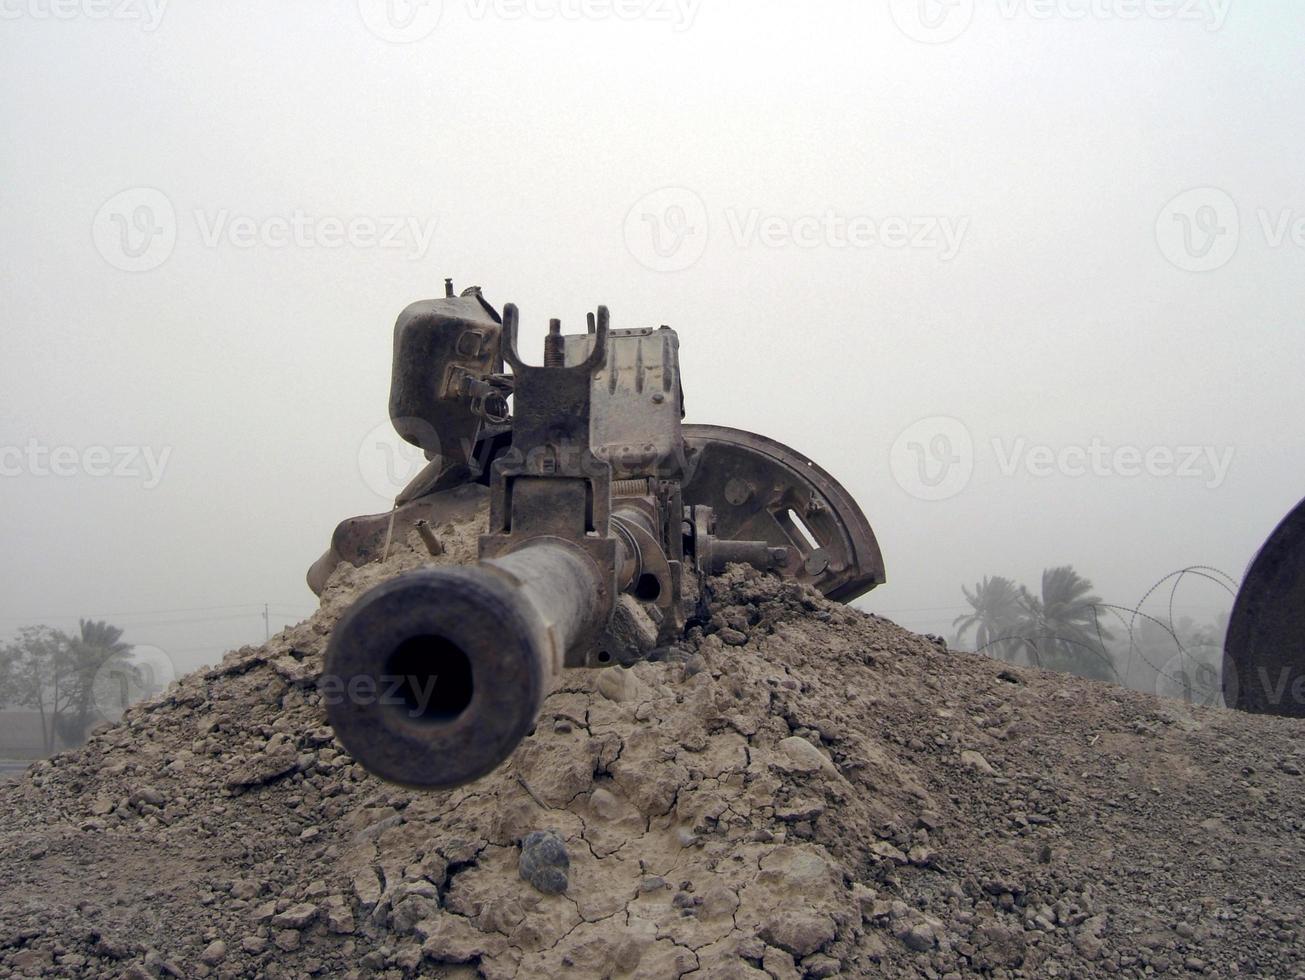
POLYGON ((1118 682, 1103 643, 1111 633, 1098 622, 1101 599, 1073 565, 1043 572, 1043 594, 1021 589, 1019 604, 1019 634, 1039 667, 1118 682))

